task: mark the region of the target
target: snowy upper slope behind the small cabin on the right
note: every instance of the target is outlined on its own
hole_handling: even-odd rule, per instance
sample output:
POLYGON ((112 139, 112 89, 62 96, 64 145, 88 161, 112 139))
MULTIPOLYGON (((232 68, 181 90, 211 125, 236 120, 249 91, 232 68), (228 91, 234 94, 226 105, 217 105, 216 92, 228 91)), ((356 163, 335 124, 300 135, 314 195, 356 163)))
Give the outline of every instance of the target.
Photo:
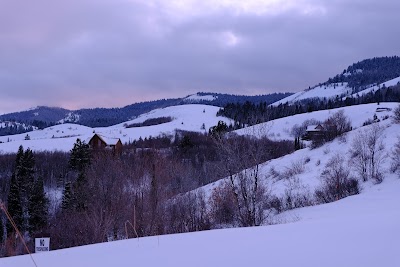
POLYGON ((254 135, 260 137, 267 135, 272 140, 294 140, 294 136, 291 134, 293 126, 300 126, 304 121, 309 119, 315 119, 323 122, 333 113, 344 110, 344 114, 351 120, 353 128, 358 128, 368 119, 373 119, 374 114, 382 119, 385 116, 391 116, 393 110, 399 105, 399 103, 380 103, 377 105, 365 104, 350 107, 342 107, 330 110, 320 110, 311 113, 303 113, 281 119, 276 119, 266 123, 257 124, 252 127, 247 127, 235 131, 238 134, 254 135), (376 112, 377 108, 390 108, 391 111, 376 112))

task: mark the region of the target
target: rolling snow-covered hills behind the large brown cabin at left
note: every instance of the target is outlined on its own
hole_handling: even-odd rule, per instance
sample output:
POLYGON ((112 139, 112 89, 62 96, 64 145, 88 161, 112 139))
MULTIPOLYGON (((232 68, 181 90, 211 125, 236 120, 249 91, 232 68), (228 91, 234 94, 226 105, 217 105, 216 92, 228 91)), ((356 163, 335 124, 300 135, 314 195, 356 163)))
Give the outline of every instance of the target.
POLYGON ((176 129, 204 132, 208 131, 210 127, 217 125, 219 120, 225 121, 227 124, 231 123, 225 117, 217 117, 218 110, 219 107, 197 104, 156 109, 125 123, 140 123, 150 118, 159 117, 172 117, 173 121, 137 128, 125 128, 125 123, 101 128, 90 128, 77 124, 61 124, 44 130, 19 135, 1 136, 0 153, 16 153, 20 145, 23 145, 25 149, 29 147, 34 151, 70 151, 77 138, 85 141, 93 136, 93 132, 109 138, 120 138, 122 143, 137 140, 140 137, 144 139, 150 136, 156 137, 160 134, 173 135, 176 129), (203 123, 205 130, 202 129, 203 123), (27 134, 31 140, 25 140, 27 134))

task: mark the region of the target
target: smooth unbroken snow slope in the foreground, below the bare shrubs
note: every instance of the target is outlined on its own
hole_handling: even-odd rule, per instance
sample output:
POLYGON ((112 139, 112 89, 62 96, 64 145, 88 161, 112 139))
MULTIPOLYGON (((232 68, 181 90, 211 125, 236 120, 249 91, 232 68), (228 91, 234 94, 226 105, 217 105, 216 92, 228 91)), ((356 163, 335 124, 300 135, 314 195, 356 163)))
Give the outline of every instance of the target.
MULTIPOLYGON (((292 212, 295 222, 116 241, 33 257, 39 267, 398 267, 400 179, 361 195, 292 212)), ((1 267, 34 266, 28 256, 1 267)))

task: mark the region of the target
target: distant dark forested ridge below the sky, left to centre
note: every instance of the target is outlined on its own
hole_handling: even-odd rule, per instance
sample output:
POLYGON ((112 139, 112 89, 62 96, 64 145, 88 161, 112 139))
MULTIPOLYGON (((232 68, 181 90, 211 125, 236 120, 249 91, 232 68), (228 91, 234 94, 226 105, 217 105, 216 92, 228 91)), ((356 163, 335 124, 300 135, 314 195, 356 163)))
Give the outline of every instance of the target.
MULTIPOLYGON (((160 99, 155 101, 140 102, 122 108, 68 110, 58 107, 38 106, 26 111, 0 115, 0 122, 18 122, 27 126, 37 127, 39 129, 59 123, 77 123, 89 127, 106 127, 130 120, 151 110, 169 106, 183 104, 207 104, 222 107, 226 103, 244 103, 246 101, 254 103, 267 102, 270 104, 279 99, 287 97, 290 94, 291 93, 273 93, 269 95, 245 96, 202 92, 189 95, 184 98, 160 99)), ((25 128, 21 127, 18 129, 18 131, 13 130, 12 132, 23 133, 27 131, 25 128)), ((1 132, 2 131, 0 129, 0 135, 2 135, 1 132)), ((10 133, 10 130, 4 128, 3 132, 10 133)))

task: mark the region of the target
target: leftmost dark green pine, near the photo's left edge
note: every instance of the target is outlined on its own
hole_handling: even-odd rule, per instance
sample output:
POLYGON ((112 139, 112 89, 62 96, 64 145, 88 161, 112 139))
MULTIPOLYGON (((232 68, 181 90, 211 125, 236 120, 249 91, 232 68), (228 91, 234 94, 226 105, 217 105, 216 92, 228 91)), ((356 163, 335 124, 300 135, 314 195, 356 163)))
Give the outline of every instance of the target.
MULTIPOLYGON (((10 191, 7 197, 7 210, 13 218, 15 224, 17 225, 20 231, 24 231, 24 217, 21 205, 21 195, 20 195, 20 187, 17 181, 17 178, 13 174, 11 176, 10 181, 10 191)), ((11 233, 14 232, 14 228, 11 223, 7 221, 7 235, 10 236, 11 233)))

